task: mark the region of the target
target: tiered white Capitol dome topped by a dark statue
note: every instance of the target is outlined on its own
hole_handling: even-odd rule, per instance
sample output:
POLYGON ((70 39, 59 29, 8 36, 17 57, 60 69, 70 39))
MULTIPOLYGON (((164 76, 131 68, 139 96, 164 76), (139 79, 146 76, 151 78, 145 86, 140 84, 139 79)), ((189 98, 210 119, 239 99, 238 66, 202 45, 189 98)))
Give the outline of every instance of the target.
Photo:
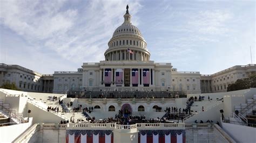
POLYGON ((113 33, 105 52, 106 61, 149 61, 150 52, 139 28, 132 25, 129 6, 126 6, 124 23, 113 33))

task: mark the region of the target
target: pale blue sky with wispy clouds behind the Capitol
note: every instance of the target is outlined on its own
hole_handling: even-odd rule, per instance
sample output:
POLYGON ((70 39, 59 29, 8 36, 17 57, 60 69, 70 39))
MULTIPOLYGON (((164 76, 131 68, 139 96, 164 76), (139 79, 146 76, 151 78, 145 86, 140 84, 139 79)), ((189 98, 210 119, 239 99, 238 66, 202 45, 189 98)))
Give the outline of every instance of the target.
POLYGON ((42 74, 104 60, 123 23, 147 41, 151 60, 213 74, 255 61, 255 1, 0 1, 0 63, 42 74))

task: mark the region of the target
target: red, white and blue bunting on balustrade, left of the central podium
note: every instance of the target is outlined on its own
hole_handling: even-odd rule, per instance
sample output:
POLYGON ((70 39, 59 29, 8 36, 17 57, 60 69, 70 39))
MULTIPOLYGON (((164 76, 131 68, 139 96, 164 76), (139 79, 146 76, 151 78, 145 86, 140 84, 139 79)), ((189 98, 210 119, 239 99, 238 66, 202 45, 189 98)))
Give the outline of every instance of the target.
POLYGON ((112 130, 66 130, 66 143, 113 143, 112 130))

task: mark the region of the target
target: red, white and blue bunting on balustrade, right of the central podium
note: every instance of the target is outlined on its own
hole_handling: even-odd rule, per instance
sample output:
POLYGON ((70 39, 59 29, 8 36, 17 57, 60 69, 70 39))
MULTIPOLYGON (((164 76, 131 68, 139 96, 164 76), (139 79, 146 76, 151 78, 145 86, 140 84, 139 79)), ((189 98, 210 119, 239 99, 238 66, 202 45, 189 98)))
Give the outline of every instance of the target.
POLYGON ((138 143, 185 143, 185 130, 140 130, 138 143))

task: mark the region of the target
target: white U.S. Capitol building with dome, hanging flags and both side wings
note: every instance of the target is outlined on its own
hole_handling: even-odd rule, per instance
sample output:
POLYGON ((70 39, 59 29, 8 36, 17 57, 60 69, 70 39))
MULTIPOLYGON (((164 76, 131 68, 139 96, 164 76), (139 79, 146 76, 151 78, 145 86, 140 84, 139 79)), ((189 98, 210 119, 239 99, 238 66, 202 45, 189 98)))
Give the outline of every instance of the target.
POLYGON ((23 91, 83 94, 84 91, 165 91, 173 95, 223 92, 228 84, 255 73, 255 65, 234 66, 213 75, 180 72, 171 63, 150 60, 142 32, 132 25, 129 10, 107 44, 105 60, 83 63, 77 71, 39 74, 17 65, 0 64, 0 85, 14 82, 23 91))

